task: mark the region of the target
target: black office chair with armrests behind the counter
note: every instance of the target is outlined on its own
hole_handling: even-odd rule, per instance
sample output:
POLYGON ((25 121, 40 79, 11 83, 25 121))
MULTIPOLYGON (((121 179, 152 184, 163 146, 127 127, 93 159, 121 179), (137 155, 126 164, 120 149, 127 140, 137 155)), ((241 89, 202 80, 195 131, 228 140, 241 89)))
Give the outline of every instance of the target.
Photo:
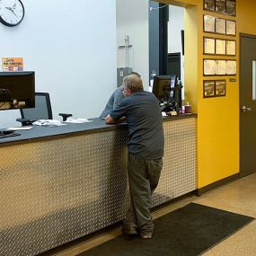
MULTIPOLYGON (((29 126, 39 119, 52 119, 52 110, 49 100, 49 93, 35 93, 35 108, 20 109, 22 118, 16 119, 22 126, 29 126)), ((72 114, 59 113, 59 116, 66 121, 72 114)))

